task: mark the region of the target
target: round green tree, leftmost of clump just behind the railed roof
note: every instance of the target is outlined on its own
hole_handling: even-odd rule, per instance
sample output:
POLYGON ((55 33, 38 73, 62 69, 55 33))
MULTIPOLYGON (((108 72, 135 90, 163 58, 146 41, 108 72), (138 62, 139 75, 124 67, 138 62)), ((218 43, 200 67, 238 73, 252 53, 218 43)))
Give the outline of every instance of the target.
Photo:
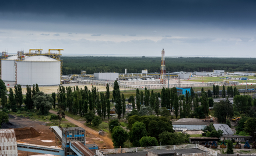
POLYGON ((129 135, 126 130, 121 126, 115 126, 112 133, 114 148, 124 148, 124 142, 128 139, 129 135))

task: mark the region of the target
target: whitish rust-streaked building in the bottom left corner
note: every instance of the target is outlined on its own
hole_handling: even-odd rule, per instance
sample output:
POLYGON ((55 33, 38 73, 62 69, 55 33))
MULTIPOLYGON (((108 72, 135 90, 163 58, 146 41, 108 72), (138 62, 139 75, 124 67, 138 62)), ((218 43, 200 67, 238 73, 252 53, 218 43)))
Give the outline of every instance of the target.
POLYGON ((0 155, 17 156, 17 143, 14 129, 0 129, 0 155))

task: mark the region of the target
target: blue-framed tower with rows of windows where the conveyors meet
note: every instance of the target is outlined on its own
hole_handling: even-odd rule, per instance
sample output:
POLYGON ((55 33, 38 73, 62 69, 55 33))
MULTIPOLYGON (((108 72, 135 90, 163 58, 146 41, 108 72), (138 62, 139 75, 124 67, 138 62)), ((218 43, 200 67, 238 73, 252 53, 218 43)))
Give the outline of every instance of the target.
POLYGON ((61 148, 64 149, 65 155, 75 155, 71 149, 71 141, 80 141, 85 145, 85 129, 82 127, 63 127, 61 148))

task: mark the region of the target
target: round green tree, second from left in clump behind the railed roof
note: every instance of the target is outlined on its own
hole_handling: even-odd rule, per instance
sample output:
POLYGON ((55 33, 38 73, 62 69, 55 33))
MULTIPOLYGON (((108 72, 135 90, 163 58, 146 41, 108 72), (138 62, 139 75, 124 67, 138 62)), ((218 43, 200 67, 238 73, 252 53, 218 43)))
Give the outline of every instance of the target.
POLYGON ((147 131, 146 131, 146 126, 144 123, 142 122, 135 122, 132 125, 132 129, 130 132, 130 141, 132 142, 132 146, 134 147, 139 147, 139 140, 141 140, 141 138, 143 136, 147 135, 147 131))

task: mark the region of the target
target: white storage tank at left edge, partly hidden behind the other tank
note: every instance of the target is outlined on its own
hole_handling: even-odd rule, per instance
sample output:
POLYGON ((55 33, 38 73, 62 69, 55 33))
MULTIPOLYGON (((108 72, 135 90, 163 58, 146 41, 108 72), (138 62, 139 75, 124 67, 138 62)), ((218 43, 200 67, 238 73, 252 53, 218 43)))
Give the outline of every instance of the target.
POLYGON ((3 81, 15 81, 15 59, 17 59, 17 55, 2 59, 1 79, 3 81))

